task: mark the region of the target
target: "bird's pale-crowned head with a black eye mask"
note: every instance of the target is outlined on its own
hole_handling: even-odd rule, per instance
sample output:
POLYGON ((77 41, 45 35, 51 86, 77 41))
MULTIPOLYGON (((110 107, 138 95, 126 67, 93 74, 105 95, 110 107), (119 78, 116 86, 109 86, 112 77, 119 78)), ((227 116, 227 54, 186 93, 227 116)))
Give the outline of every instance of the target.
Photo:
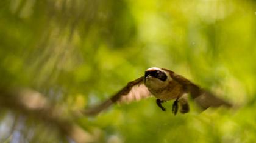
POLYGON ((147 87, 164 87, 172 80, 171 76, 161 68, 152 67, 145 71, 144 82, 147 87))

